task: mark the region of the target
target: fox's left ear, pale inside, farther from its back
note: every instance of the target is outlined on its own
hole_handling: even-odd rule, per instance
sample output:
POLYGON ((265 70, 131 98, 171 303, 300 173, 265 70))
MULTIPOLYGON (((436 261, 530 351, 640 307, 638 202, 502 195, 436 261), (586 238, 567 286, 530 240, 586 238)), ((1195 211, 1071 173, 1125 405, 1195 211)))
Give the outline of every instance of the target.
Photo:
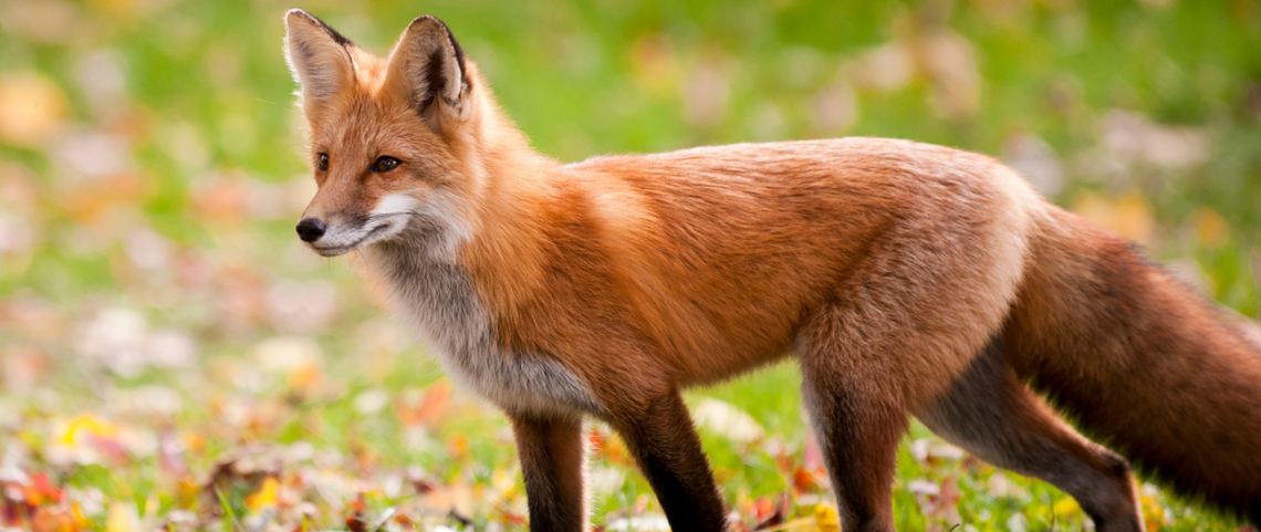
POLYGON ((285 61, 301 86, 303 110, 310 116, 318 105, 354 82, 354 59, 348 49, 354 43, 300 9, 285 14, 285 61))

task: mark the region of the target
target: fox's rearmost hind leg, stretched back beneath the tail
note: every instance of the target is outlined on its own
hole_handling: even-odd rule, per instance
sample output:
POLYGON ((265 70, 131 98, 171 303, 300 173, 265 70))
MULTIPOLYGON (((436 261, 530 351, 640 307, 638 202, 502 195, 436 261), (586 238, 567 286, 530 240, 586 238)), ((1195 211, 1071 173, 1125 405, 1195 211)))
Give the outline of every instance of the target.
POLYGON ((1001 339, 991 342, 942 397, 914 413, 977 458, 1063 489, 1096 529, 1144 529, 1129 464, 1077 434, 1020 382, 1004 364, 1001 339))

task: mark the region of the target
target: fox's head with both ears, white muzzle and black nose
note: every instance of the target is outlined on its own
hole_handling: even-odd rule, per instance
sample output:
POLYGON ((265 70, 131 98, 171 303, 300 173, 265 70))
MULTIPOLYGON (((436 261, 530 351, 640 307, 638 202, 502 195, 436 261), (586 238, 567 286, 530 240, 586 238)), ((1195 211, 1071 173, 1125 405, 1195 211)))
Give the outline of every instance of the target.
POLYGON ((412 20, 382 59, 300 9, 285 23, 319 185, 299 237, 330 257, 409 227, 460 232, 478 188, 478 124, 493 110, 446 25, 412 20))

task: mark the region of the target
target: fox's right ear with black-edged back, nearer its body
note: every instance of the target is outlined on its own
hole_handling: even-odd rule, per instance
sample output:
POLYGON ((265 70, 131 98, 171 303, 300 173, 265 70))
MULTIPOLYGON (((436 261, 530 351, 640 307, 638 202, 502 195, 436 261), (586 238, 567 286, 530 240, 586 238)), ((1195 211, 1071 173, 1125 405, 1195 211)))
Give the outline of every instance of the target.
POLYGON ((390 53, 386 77, 435 126, 441 119, 468 119, 472 86, 464 50, 441 20, 425 15, 411 21, 390 53))

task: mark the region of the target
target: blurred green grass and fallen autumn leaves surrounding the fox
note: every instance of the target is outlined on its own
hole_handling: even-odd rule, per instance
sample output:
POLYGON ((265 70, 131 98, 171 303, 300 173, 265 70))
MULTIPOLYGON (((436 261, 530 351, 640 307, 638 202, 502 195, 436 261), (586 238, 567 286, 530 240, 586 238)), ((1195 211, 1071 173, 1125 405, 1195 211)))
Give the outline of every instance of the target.
MULTIPOLYGON (((503 419, 294 237, 314 193, 294 6, 378 53, 438 15, 561 160, 842 135, 976 150, 1224 306, 1261 305, 1255 0, 4 0, 0 527, 523 526, 503 419)), ((689 395, 743 529, 828 529, 798 379, 689 395)), ((618 440, 591 441, 595 523, 661 529, 618 440)), ((1082 526, 918 425, 899 464, 902 529, 1082 526)), ((1142 504, 1149 529, 1237 528, 1151 485, 1142 504)))

